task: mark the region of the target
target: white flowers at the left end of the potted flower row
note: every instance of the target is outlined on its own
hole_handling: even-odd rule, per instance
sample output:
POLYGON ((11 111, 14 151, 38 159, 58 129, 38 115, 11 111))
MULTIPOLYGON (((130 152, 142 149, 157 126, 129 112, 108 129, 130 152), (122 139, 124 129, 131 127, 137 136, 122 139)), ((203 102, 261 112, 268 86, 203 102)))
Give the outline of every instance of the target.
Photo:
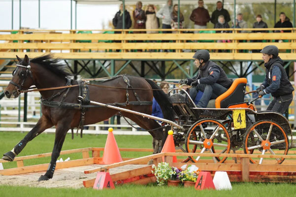
POLYGON ((157 185, 165 185, 167 181, 171 178, 171 175, 174 174, 172 172, 172 168, 166 162, 161 162, 157 166, 152 165, 152 173, 156 177, 157 185))

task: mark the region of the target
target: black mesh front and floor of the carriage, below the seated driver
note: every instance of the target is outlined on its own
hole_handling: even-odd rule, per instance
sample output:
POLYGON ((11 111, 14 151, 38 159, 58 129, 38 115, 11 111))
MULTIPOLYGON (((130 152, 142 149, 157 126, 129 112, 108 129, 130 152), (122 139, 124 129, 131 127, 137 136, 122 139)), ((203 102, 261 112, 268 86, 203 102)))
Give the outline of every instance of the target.
POLYGON ((196 108, 187 95, 174 94, 169 99, 178 116, 192 116, 195 119, 214 118, 224 120, 232 112, 231 109, 196 108))

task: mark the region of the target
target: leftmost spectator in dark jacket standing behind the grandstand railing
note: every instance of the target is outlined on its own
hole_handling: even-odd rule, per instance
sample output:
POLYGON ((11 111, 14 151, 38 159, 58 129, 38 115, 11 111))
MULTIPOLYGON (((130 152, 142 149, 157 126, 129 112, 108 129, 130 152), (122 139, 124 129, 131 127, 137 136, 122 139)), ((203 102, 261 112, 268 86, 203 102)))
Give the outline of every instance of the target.
MULTIPOLYGON (((115 14, 114 18, 112 19, 112 23, 115 29, 122 29, 123 27, 123 4, 120 4, 119 11, 115 14)), ((131 16, 127 10, 124 10, 124 22, 125 22, 125 29, 130 29, 132 26, 131 16)), ((120 32, 115 32, 120 33, 120 32)))

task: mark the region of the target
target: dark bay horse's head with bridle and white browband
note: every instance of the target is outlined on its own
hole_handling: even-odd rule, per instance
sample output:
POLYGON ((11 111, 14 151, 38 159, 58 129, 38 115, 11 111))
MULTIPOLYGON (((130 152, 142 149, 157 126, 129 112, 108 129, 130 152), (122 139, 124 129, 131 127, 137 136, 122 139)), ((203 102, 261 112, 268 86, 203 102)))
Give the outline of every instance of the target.
POLYGON ((31 72, 30 60, 25 55, 24 60, 16 56, 19 63, 12 71, 12 79, 7 88, 4 90, 5 96, 9 99, 12 96, 17 98, 21 91, 28 90, 34 84, 34 79, 31 72))

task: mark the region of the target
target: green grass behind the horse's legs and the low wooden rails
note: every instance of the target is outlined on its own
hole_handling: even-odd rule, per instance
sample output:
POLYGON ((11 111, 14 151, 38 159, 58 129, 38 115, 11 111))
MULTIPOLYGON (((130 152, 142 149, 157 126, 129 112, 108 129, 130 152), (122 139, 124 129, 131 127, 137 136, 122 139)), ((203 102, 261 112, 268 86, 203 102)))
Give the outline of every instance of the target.
MULTIPOLYGON (((0 154, 10 151, 27 132, 0 132, 0 154)), ((54 133, 41 133, 35 139, 30 141, 18 156, 35 155, 40 153, 50 153, 54 145, 54 133)), ((83 134, 80 138, 74 134, 74 140, 71 139, 71 133, 68 133, 62 150, 70 150, 86 147, 105 147, 107 135, 83 134)), ((119 148, 152 148, 152 137, 150 135, 115 135, 119 148)), ((150 152, 121 152, 124 158, 138 158, 150 155, 150 152)), ((61 155, 63 160, 68 157, 71 160, 82 159, 81 153, 61 155)), ((25 160, 24 165, 45 164, 50 162, 50 157, 25 160)), ((16 167, 16 162, 3 163, 4 168, 16 167)))

